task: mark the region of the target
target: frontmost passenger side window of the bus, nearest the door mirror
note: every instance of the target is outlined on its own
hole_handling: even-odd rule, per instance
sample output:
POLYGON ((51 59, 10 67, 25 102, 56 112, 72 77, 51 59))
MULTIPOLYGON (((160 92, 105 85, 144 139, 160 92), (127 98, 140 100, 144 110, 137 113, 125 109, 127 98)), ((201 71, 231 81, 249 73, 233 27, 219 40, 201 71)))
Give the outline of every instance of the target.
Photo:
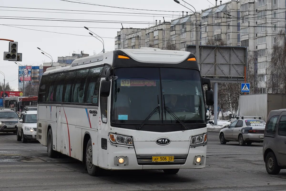
POLYGON ((86 103, 98 104, 99 85, 103 67, 91 68, 86 81, 86 103))

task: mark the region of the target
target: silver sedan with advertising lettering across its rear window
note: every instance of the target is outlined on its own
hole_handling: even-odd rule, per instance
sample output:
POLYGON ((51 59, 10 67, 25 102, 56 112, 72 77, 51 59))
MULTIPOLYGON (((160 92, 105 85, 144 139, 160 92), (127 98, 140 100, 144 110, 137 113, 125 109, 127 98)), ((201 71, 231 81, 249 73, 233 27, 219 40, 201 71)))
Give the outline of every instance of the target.
POLYGON ((238 141, 240 146, 251 145, 253 142, 261 143, 264 138, 266 122, 261 119, 237 119, 226 125, 219 133, 221 144, 229 141, 238 141))

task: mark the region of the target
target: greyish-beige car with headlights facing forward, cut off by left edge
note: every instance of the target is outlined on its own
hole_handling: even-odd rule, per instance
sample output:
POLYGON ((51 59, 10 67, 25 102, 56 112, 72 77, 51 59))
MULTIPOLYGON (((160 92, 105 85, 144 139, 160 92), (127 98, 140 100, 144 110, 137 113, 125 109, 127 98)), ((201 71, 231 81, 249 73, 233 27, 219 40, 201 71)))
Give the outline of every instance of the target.
POLYGON ((13 109, 0 109, 0 132, 16 133, 18 119, 18 113, 13 109))

